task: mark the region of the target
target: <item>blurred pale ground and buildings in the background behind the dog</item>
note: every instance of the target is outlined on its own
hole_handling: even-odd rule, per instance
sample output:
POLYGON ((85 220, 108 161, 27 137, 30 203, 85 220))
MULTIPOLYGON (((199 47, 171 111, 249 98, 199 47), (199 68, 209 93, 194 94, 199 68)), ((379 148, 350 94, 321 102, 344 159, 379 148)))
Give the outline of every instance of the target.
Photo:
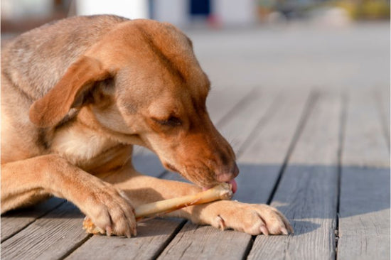
POLYGON ((178 26, 213 87, 390 87, 389 0, 2 0, 1 36, 94 13, 178 26))

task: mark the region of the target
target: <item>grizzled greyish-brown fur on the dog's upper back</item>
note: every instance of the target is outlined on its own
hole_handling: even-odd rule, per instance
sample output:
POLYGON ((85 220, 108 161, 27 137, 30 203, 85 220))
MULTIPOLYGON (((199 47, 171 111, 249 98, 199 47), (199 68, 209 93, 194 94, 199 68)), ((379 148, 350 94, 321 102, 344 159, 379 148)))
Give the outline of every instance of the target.
POLYGON ((45 24, 2 51, 2 73, 32 99, 43 96, 76 58, 117 23, 119 16, 78 16, 45 24))

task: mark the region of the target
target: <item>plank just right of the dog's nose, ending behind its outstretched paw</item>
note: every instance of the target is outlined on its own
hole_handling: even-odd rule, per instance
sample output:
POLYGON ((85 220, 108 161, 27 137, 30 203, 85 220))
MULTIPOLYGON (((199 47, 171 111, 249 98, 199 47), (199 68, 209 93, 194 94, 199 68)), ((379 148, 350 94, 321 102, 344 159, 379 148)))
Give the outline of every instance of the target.
POLYGON ((241 173, 236 178, 238 190, 235 199, 251 203, 267 202, 305 113, 309 95, 309 90, 304 90, 280 97, 274 115, 247 143, 238 160, 241 173))

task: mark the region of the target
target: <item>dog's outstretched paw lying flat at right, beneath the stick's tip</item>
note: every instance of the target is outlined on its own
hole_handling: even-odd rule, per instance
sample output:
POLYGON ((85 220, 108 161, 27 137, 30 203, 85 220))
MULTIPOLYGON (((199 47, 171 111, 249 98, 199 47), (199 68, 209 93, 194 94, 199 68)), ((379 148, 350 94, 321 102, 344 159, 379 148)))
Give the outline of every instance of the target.
POLYGON ((234 229, 247 234, 289 234, 294 230, 286 217, 274 207, 218 201, 193 210, 192 221, 210 224, 218 229, 234 229))

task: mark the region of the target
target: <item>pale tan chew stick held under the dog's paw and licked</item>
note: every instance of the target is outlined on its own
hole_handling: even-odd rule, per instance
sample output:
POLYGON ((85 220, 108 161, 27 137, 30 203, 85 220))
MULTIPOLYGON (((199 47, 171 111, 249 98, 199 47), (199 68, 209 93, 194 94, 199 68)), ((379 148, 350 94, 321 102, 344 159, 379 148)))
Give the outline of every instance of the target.
MULTIPOLYGON (((183 197, 174 197, 168 200, 160 200, 144 205, 139 205, 134 209, 136 221, 142 220, 144 217, 156 217, 174 210, 179 210, 182 207, 198 205, 215 200, 230 200, 232 197, 231 185, 228 183, 220 183, 209 190, 205 190, 195 195, 187 195, 183 197)), ((89 217, 85 217, 83 221, 83 229, 91 234, 105 234, 105 230, 96 227, 89 217)))

